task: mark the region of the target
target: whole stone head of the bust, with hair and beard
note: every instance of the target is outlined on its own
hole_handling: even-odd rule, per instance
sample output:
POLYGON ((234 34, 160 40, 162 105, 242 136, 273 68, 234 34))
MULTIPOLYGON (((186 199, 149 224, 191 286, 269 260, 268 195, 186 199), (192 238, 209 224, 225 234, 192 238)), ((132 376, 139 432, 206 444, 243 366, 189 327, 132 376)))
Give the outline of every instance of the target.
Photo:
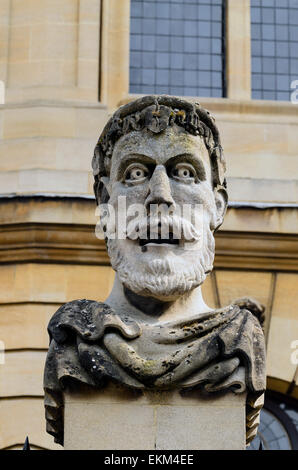
POLYGON ((162 300, 202 284, 227 206, 225 161, 211 114, 166 95, 126 104, 105 126, 92 167, 97 203, 109 208, 102 226, 122 284, 162 300), (123 220, 124 212, 124 236, 111 236, 111 215, 123 220))

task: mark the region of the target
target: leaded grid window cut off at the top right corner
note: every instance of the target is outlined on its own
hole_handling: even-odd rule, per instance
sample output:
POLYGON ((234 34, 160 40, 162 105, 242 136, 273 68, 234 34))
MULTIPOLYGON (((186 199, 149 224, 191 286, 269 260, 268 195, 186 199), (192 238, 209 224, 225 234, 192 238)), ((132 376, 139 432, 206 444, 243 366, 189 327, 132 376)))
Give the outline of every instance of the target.
POLYGON ((298 0, 251 0, 252 97, 290 100, 298 79, 298 0))

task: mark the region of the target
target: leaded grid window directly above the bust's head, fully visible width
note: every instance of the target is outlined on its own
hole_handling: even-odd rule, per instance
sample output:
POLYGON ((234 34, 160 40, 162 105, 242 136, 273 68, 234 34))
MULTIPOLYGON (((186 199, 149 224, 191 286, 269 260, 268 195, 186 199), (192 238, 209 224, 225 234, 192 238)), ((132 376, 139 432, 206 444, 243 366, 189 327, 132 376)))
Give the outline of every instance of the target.
POLYGON ((223 0, 131 0, 130 92, 225 96, 223 0))

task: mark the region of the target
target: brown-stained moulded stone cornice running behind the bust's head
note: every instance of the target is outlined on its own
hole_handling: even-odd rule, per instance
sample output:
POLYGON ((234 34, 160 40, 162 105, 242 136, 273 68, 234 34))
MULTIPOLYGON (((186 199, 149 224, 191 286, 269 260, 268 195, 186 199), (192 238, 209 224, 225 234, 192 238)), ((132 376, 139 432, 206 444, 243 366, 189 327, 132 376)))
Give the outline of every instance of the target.
MULTIPOLYGON (((109 265, 94 225, 17 223, 0 226, 0 263, 109 265)), ((298 271, 298 235, 221 230, 216 268, 298 271)))

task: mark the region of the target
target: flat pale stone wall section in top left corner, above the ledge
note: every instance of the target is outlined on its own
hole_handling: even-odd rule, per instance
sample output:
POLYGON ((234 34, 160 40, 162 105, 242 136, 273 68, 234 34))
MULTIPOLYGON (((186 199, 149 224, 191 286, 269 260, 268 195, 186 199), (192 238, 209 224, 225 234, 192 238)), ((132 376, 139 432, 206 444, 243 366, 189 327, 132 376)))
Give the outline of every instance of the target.
POLYGON ((0 79, 7 102, 98 101, 100 3, 1 2, 0 79))

